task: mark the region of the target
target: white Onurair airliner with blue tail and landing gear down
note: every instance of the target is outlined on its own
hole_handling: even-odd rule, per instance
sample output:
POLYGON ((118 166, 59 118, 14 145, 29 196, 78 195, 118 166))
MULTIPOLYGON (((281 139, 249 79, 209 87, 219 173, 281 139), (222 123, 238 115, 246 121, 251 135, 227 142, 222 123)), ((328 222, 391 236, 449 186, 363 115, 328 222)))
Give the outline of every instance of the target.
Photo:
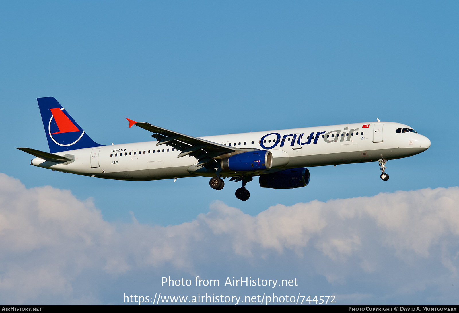
POLYGON ((53 171, 120 180, 157 180, 205 176, 210 187, 224 179, 241 182, 236 198, 250 197, 246 183, 260 187, 307 186, 307 167, 378 162, 381 179, 388 160, 427 150, 430 140, 412 127, 394 122, 270 130, 193 137, 145 122, 129 121, 152 133, 154 141, 104 146, 91 140, 54 97, 37 98, 50 153, 17 148, 33 155, 31 165, 53 171))

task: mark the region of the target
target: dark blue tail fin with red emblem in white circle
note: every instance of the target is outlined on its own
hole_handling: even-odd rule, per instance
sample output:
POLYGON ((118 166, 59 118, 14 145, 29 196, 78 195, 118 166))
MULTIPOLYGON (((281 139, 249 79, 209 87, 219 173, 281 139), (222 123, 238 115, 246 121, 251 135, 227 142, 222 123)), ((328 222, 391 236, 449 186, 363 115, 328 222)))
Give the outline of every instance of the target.
POLYGON ((99 147, 53 97, 37 98, 50 152, 99 147))

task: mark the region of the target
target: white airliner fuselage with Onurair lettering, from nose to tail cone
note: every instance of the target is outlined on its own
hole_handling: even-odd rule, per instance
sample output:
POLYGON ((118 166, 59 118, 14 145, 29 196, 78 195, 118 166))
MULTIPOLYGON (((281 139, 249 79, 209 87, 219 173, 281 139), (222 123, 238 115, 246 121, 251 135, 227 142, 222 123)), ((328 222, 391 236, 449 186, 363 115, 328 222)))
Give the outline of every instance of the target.
MULTIPOLYGON (((398 128, 410 127, 393 122, 373 122, 217 135, 202 139, 236 148, 271 151, 271 169, 243 173, 256 176, 294 167, 397 159, 418 154, 430 147, 431 142, 425 136, 413 132, 396 133, 398 128), (369 127, 362 128, 363 125, 369 127)), ((180 151, 167 144, 156 144, 157 141, 148 141, 65 151, 56 154, 71 156, 73 161, 56 163, 37 157, 31 164, 67 173, 125 180, 214 176, 214 173, 204 173, 200 167, 196 168, 195 157, 177 158, 180 151)), ((228 171, 221 172, 220 176, 238 174, 242 173, 228 171)))

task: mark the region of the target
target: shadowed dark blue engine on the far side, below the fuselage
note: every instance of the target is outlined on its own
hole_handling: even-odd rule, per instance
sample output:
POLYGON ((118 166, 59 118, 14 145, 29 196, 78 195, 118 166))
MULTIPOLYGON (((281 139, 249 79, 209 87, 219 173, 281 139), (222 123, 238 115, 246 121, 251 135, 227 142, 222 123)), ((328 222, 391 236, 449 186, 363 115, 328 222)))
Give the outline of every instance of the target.
POLYGON ((273 189, 290 189, 307 186, 309 170, 306 167, 289 168, 287 170, 260 175, 260 187, 273 189))

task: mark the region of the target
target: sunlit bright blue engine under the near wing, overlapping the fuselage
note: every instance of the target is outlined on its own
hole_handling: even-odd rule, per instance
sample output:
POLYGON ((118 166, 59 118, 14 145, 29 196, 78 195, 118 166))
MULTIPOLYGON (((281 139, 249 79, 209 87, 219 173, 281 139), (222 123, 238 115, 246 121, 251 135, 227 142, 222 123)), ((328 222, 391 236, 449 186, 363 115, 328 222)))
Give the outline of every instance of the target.
POLYGON ((270 151, 249 151, 226 157, 220 161, 224 171, 250 172, 270 169, 273 155, 270 151))

